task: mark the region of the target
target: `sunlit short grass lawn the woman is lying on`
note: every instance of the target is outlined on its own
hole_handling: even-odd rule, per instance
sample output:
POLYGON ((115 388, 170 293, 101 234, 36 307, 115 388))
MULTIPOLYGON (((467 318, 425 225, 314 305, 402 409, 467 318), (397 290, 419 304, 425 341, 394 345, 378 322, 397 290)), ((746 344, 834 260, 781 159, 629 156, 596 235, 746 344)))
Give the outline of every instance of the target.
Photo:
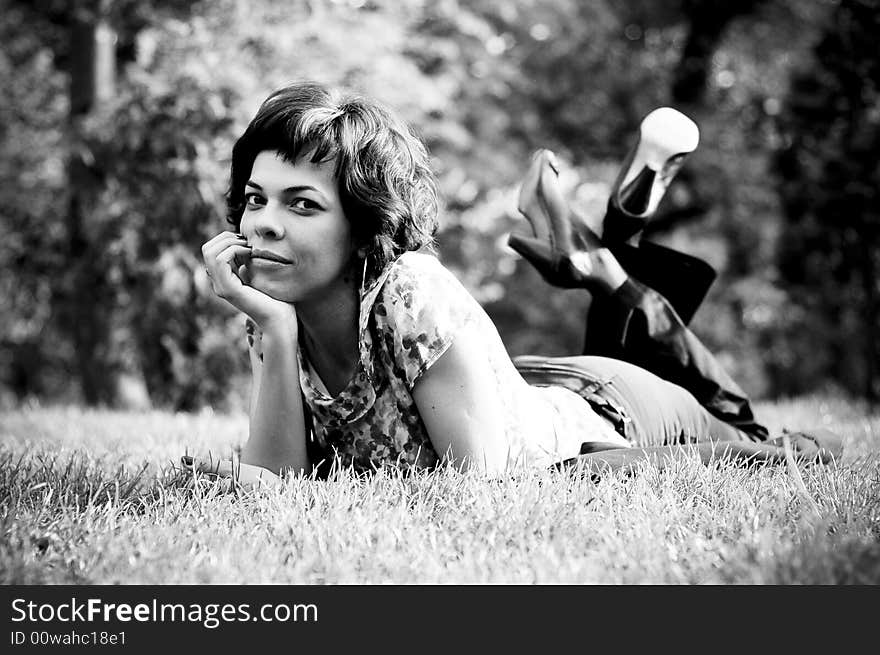
POLYGON ((173 463, 228 456, 245 416, 22 408, 0 416, 0 583, 880 583, 880 415, 822 398, 758 414, 834 429, 846 453, 804 486, 693 461, 236 494, 173 463))

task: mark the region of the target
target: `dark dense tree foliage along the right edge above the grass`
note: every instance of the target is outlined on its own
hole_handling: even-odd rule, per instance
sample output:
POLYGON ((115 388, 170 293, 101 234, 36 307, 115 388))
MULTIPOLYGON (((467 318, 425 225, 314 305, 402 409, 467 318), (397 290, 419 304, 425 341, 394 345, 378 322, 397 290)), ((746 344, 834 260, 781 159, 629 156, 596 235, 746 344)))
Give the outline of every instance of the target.
MULTIPOLYGON (((880 397, 880 2, 842 0, 794 76, 777 171, 789 339, 817 378, 880 397)), ((809 388, 796 378, 790 388, 809 388)))

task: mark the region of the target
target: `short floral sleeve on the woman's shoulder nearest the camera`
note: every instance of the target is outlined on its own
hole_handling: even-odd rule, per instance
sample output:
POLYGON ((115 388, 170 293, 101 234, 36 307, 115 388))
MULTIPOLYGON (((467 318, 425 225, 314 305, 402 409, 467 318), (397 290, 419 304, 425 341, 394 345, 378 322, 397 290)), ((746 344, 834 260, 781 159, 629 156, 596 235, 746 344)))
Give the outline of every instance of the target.
POLYGON ((471 297, 431 255, 404 255, 388 276, 374 308, 376 325, 394 369, 408 389, 475 318, 471 297))

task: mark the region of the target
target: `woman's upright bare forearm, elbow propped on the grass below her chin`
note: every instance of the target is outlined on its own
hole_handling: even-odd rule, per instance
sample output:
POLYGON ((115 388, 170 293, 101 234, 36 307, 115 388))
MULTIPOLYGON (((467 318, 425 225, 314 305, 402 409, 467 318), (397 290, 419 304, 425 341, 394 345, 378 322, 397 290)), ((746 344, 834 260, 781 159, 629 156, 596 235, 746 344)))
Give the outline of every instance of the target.
POLYGON ((262 353, 260 366, 253 366, 250 437, 241 461, 275 473, 308 473, 311 466, 306 452, 295 327, 265 330, 262 353))

